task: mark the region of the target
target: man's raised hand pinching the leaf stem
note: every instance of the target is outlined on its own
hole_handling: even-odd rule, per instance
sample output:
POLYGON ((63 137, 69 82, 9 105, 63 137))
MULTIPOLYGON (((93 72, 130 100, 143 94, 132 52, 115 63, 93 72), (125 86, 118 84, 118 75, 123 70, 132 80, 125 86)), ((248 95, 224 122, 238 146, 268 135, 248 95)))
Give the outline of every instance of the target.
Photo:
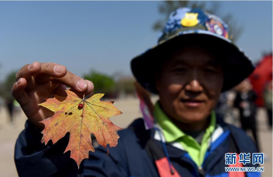
POLYGON ((65 66, 56 63, 26 64, 17 72, 16 80, 12 87, 12 96, 28 119, 39 129, 44 127, 39 121, 54 114, 38 105, 45 102, 45 98, 52 98, 53 95, 66 97, 65 90, 71 90, 82 98, 84 93, 89 95, 94 90, 91 81, 83 80, 67 71, 65 66))

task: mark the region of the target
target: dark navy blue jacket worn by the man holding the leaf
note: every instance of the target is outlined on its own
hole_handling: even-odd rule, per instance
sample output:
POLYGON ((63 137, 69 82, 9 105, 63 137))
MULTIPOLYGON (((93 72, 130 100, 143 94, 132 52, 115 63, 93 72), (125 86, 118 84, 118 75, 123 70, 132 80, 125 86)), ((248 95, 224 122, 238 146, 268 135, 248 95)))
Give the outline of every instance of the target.
MULTIPOLYGON (((257 152, 243 130, 225 123, 217 123, 217 126, 204 163, 199 168, 186 151, 165 143, 170 162, 181 177, 228 177, 224 169, 227 166, 225 153, 257 152)), ((127 129, 118 132, 118 145, 110 148, 108 156, 106 149, 99 146, 96 152, 89 153, 89 159, 84 159, 78 169, 76 162, 69 158, 70 152, 63 154, 69 133, 54 145, 49 141, 45 146, 40 142, 42 134, 27 120, 16 141, 15 164, 19 176, 156 177, 159 176, 157 166, 147 150, 149 139, 153 140, 153 147, 162 148, 156 131, 145 130, 143 120, 137 119, 127 129)), ((249 163, 244 166, 257 165, 249 163)), ((246 176, 257 177, 260 173, 247 172, 246 176)))

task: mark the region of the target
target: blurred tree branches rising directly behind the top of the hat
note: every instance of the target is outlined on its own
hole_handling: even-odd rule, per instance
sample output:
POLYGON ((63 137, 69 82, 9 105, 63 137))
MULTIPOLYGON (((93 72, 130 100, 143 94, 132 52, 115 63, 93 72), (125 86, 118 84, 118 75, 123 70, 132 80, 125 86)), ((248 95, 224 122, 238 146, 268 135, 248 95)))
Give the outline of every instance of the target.
MULTIPOLYGON (((161 1, 161 4, 158 6, 158 11, 163 18, 157 20, 153 24, 153 30, 162 31, 166 25, 170 13, 179 7, 201 8, 204 11, 217 15, 220 5, 218 2, 213 2, 211 7, 208 8, 206 6, 206 1, 161 1)), ((243 27, 237 24, 231 13, 224 16, 218 16, 221 17, 222 20, 229 26, 229 38, 235 42, 241 35, 243 27)))

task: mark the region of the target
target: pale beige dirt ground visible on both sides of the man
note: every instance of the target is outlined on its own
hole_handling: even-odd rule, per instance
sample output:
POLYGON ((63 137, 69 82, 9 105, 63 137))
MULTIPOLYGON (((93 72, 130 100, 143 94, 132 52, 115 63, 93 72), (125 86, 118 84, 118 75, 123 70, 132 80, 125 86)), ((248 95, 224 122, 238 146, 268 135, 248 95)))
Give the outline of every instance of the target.
MULTIPOLYGON (((156 98, 153 98, 153 102, 156 98)), ((141 117, 137 99, 116 100, 114 105, 123 112, 119 116, 110 118, 117 126, 125 128, 135 118, 141 117)), ((258 136, 261 142, 261 152, 265 153, 265 163, 262 165, 265 172, 262 177, 272 176, 272 129, 268 129, 264 109, 259 109, 257 114, 258 136)), ((15 116, 15 124, 9 123, 7 110, 0 107, 0 176, 18 176, 14 164, 14 145, 19 133, 24 129, 26 116, 18 111, 15 116)), ((239 126, 238 120, 227 119, 227 122, 239 126)), ((250 133, 251 134, 251 133, 250 133)))

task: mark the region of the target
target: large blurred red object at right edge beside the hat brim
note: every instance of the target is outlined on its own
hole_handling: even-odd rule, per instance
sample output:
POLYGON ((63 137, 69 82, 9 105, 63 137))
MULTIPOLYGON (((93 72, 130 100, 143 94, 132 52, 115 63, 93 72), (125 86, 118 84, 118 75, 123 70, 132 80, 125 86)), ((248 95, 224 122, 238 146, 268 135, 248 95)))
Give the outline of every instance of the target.
POLYGON ((265 55, 256 66, 253 73, 249 76, 253 90, 257 94, 257 106, 264 106, 262 97, 265 84, 272 80, 272 53, 265 55))

